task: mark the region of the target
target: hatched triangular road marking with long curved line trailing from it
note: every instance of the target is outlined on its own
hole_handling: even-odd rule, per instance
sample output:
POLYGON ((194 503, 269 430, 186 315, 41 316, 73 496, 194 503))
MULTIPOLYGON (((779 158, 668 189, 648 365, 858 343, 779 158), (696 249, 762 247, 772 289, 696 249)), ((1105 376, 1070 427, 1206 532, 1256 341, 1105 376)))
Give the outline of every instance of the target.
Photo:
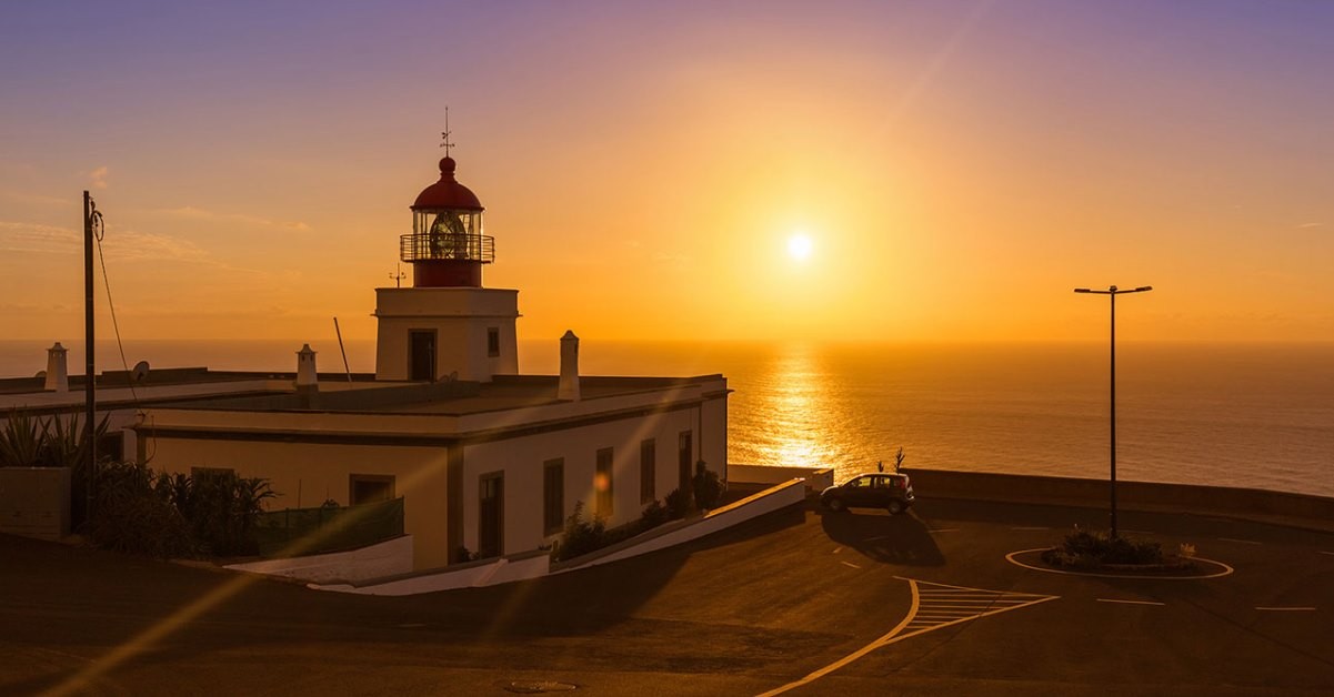
POLYGON ((956 585, 932 584, 927 581, 915 581, 912 578, 903 578, 902 576, 895 576, 895 578, 907 581, 908 588, 912 590, 912 605, 908 608, 907 617, 904 617, 903 621, 898 624, 898 626, 891 629, 888 634, 884 634, 883 637, 867 644, 866 646, 862 646, 860 649, 844 656, 843 658, 839 658, 838 661, 834 661, 832 664, 820 668, 819 670, 803 677, 802 680, 774 688, 760 694, 759 697, 772 697, 775 694, 782 694, 787 690, 800 688, 802 685, 808 685, 811 682, 815 682, 816 680, 838 670, 839 668, 843 668, 844 665, 851 664, 852 661, 856 661, 858 658, 862 658, 863 656, 874 652, 875 649, 888 646, 890 644, 903 641, 904 638, 908 637, 915 637, 918 634, 923 634, 934 629, 942 629, 960 622, 967 622, 970 620, 976 620, 979 617, 986 617, 988 614, 999 614, 1002 612, 1017 610, 1019 608, 1037 605, 1039 602, 1046 602, 1049 600, 1057 600, 1061 597, 1061 596, 1039 596, 1037 593, 1010 593, 1005 590, 984 590, 980 588, 963 588, 956 585), (928 588, 923 590, 919 586, 928 586, 928 588), (956 592, 968 592, 972 594, 978 594, 979 600, 968 610, 934 612, 930 608, 930 605, 932 604, 932 597, 942 594, 946 594, 946 597, 954 597, 947 594, 956 592), (980 600, 982 596, 990 600, 980 600), (927 614, 931 618, 918 621, 919 614, 927 614))

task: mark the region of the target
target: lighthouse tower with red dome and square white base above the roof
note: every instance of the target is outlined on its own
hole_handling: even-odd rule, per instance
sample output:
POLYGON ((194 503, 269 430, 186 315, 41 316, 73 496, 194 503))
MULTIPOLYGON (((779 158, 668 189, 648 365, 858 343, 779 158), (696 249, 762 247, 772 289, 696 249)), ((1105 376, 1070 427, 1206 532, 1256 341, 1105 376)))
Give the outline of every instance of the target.
POLYGON ((490 382, 519 372, 519 292, 482 287, 495 239, 483 232, 482 201, 456 169, 446 155, 439 181, 411 205, 412 232, 399 237, 399 259, 412 265, 412 287, 375 291, 378 380, 490 382))

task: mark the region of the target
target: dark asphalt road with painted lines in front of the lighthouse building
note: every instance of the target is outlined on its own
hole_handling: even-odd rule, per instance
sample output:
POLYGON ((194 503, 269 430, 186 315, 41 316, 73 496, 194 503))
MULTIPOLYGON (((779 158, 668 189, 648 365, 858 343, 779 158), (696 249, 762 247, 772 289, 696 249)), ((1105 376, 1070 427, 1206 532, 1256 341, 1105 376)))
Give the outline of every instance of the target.
POLYGON ((619 564, 394 598, 0 536, 0 693, 1334 693, 1334 534, 1122 512, 1123 530, 1234 572, 1006 560, 1105 518, 788 509, 619 564))

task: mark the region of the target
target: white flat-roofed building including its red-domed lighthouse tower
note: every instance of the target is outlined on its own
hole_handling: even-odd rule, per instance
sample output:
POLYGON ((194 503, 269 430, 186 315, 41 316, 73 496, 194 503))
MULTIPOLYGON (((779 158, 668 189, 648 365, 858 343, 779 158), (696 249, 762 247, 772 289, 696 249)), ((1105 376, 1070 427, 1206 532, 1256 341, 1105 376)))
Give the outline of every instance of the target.
MULTIPOLYGON (((308 352, 295 380, 155 372, 137 405, 120 402, 125 450, 159 470, 268 478, 271 509, 403 497, 416 569, 550 545, 580 501, 608 526, 630 522, 688 490, 699 462, 726 480, 723 376, 584 377, 572 332, 560 374, 519 374, 518 291, 482 285, 494 239, 454 172, 444 157, 399 240, 412 288, 376 289, 374 378, 320 380, 308 352)), ((0 405, 81 404, 21 394, 0 384, 0 405)))

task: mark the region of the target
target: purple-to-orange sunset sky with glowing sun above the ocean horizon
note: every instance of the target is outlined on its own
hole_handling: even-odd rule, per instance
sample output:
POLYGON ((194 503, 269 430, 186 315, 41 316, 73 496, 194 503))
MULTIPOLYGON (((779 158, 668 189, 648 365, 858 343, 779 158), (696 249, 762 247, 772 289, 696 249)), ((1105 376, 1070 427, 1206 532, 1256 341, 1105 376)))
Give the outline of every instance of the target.
POLYGON ((11 1, 0 337, 81 337, 83 189, 127 337, 372 337, 448 105, 520 337, 1085 340, 1071 289, 1119 284, 1155 287, 1127 339, 1334 340, 1331 36, 1277 0, 11 1))

